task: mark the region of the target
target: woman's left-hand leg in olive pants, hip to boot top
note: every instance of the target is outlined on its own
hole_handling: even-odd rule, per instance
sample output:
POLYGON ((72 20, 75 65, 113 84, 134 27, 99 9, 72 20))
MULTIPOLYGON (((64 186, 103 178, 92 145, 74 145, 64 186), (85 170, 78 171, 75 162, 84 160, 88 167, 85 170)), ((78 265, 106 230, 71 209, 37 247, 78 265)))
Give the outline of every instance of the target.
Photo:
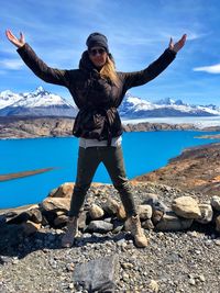
POLYGON ((78 216, 99 164, 100 158, 96 147, 79 147, 77 177, 70 202, 69 217, 78 216))

